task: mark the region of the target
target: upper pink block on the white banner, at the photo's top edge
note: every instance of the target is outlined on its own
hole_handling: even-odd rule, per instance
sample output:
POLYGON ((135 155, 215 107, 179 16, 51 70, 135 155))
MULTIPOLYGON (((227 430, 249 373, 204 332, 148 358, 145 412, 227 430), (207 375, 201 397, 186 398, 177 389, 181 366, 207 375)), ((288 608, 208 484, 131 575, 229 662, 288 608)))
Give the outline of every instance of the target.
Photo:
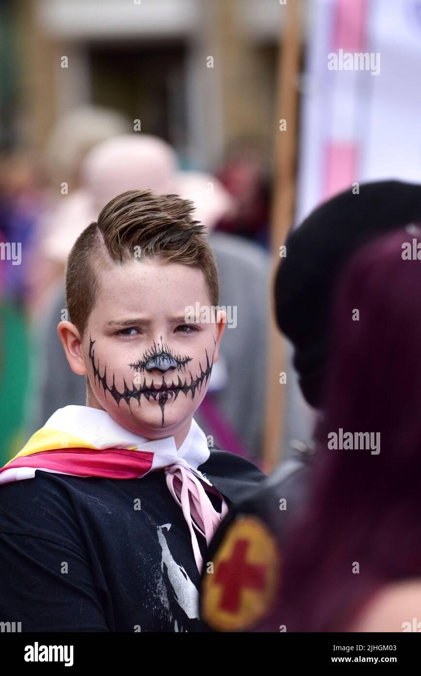
POLYGON ((364 51, 366 43, 366 0, 336 0, 333 20, 333 51, 364 51))

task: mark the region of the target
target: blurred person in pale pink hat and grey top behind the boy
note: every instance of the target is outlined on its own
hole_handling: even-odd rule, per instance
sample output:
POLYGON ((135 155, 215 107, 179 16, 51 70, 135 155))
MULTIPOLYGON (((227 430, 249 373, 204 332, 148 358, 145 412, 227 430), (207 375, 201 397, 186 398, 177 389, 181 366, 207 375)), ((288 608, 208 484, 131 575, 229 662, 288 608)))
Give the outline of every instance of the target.
MULTIPOLYGON (((61 274, 80 232, 115 195, 142 188, 179 194, 194 202, 195 218, 204 224, 217 259, 221 306, 233 309, 232 326, 225 333, 209 395, 196 418, 219 448, 258 460, 264 424, 262 372, 269 322, 269 259, 258 245, 215 232, 216 224, 233 208, 231 197, 214 176, 179 171, 171 146, 148 135, 122 135, 99 143, 86 155, 81 176, 82 186, 62 198, 54 227, 42 245, 57 270, 61 267, 61 274)), ((61 277, 55 293, 37 327, 40 394, 33 404, 30 432, 43 425, 57 406, 82 404, 86 394, 57 339, 57 322, 66 312, 61 277)))

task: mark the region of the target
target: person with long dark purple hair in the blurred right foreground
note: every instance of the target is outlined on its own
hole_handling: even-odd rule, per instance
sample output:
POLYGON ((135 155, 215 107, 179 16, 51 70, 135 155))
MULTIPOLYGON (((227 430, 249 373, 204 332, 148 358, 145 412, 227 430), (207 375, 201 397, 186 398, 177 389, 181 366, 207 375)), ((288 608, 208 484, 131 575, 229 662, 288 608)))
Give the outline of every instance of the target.
POLYGON ((287 631, 418 631, 420 308, 421 229, 409 226, 361 251, 337 293, 310 498, 285 548, 287 631), (335 448, 340 429, 375 444, 335 448))

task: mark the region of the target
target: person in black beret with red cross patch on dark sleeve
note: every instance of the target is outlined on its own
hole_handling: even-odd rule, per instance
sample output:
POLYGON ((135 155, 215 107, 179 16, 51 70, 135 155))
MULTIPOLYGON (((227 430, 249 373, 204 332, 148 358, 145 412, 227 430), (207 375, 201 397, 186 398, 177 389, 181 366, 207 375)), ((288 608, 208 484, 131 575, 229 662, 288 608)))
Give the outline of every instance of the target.
MULTIPOLYGON (((308 404, 318 412, 320 419, 324 415, 323 393, 332 353, 333 301, 341 275, 354 254, 370 241, 376 241, 387 233, 394 233, 414 222, 421 222, 421 186, 399 181, 381 181, 360 185, 358 195, 349 189, 333 197, 314 210, 287 238, 287 255, 281 259, 275 279, 277 322, 279 329, 293 343, 293 366, 298 373, 302 393, 308 404)), ((392 294, 395 279, 389 277, 385 280, 385 285, 392 294)), ((354 308, 358 310, 358 306, 354 308)), ((394 310, 393 305, 390 310, 394 310)), ((352 322, 351 315, 349 322, 352 328, 355 324, 362 326, 358 322, 352 322)), ((387 324, 380 324, 377 330, 380 354, 380 343, 384 340, 381 331, 387 332, 389 329, 387 324)), ((352 333, 349 327, 346 331, 352 333)), ((404 340, 402 330, 400 343, 404 340)), ((372 359, 373 356, 370 355, 370 360, 372 359)), ((401 356, 397 354, 395 360, 399 359, 401 356)), ((348 368, 349 378, 352 379, 353 364, 348 364, 348 368)), ((392 367, 383 363, 379 368, 384 368, 387 375, 388 369, 392 367)), ((364 390, 366 402, 371 402, 374 411, 376 394, 370 394, 370 380, 364 383, 361 379, 358 381, 356 366, 355 369, 354 386, 361 389, 361 395, 364 390)), ((380 413, 381 411, 378 415, 380 413)), ((389 422, 393 423, 393 417, 389 422)), ((368 455, 366 462, 374 464, 383 453, 383 450, 378 454, 376 451, 378 437, 375 433, 379 430, 374 427, 363 429, 361 424, 356 430, 340 425, 336 431, 333 428, 331 432, 337 434, 336 441, 339 445, 343 443, 345 433, 362 433, 358 436, 358 441, 365 441, 372 448, 368 452, 358 453, 368 455), (342 429, 341 433, 339 428, 342 429), (369 432, 372 432, 371 437, 363 435, 369 432)), ((409 429, 408 427, 408 431, 409 429)), ((408 437, 405 440, 408 441, 408 437)), ((334 445, 335 437, 329 441, 334 445)), ((383 436, 381 443, 383 444, 383 436)), ((348 437, 343 445, 349 445, 348 437)), ((341 454, 347 451, 330 452, 341 454)), ((356 451, 349 453, 355 455, 356 451)), ((262 626, 261 623, 269 617, 274 607, 275 621, 271 629, 268 629, 267 622, 264 624, 266 631, 279 631, 279 627, 284 627, 285 622, 277 612, 277 590, 283 581, 285 539, 306 504, 313 462, 312 451, 297 451, 295 456, 281 463, 258 490, 231 509, 221 523, 208 550, 208 564, 204 566, 202 574, 200 598, 202 619, 213 631, 255 631, 256 627, 262 626)), ((340 485, 337 486, 337 493, 340 496, 340 485)), ((354 500, 357 499, 358 496, 354 496, 354 500)), ((331 508, 334 518, 334 501, 331 508)), ((352 508, 352 502, 344 506, 344 510, 351 512, 352 508)), ((385 506, 378 506, 378 510, 384 509, 385 506)), ((329 529, 326 533, 329 534, 329 529)), ((325 556, 320 548, 314 550, 314 555, 316 553, 322 558, 325 556)), ((302 566, 306 567, 305 561, 302 566)), ((349 576, 358 577, 352 575, 351 569, 349 576)), ((294 582, 297 581, 298 576, 294 577, 294 582)), ((316 595, 317 587, 313 587, 313 591, 316 595)), ((301 612, 304 612, 307 601, 304 596, 300 598, 301 612)), ((291 629, 288 625, 288 631, 293 627, 291 606, 288 610, 291 612, 291 629)), ((327 608, 327 616, 328 610, 327 608)), ((283 630, 285 631, 285 627, 283 630)))

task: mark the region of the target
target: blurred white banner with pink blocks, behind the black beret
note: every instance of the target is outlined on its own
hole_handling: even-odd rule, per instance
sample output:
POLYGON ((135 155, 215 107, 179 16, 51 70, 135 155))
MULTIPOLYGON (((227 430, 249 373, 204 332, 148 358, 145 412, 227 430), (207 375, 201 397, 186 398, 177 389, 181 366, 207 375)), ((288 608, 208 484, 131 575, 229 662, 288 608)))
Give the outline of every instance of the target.
POLYGON ((421 0, 311 0, 296 224, 354 182, 421 183, 421 0))

